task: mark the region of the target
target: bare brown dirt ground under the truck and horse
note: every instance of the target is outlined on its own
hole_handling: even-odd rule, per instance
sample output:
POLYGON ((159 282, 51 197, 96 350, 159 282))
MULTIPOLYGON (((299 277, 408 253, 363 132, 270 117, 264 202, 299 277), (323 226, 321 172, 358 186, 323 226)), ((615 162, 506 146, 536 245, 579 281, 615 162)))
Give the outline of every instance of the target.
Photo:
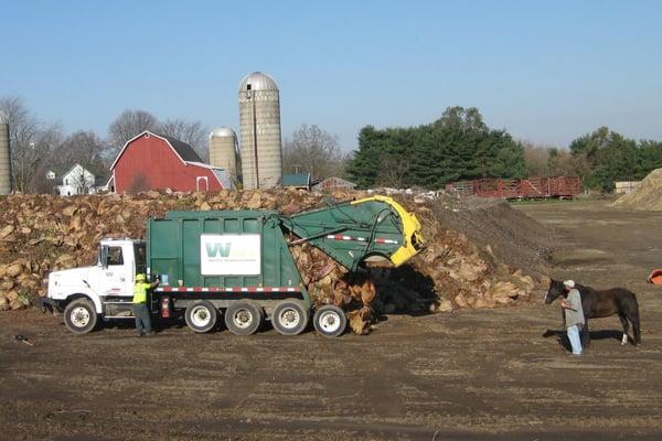
POLYGON ((617 318, 559 344, 558 305, 392 315, 367 336, 76 336, 61 318, 0 314, 8 440, 662 439, 662 214, 606 203, 520 206, 553 227, 558 278, 638 293, 640 347, 617 318), (29 346, 14 338, 26 336, 29 346))

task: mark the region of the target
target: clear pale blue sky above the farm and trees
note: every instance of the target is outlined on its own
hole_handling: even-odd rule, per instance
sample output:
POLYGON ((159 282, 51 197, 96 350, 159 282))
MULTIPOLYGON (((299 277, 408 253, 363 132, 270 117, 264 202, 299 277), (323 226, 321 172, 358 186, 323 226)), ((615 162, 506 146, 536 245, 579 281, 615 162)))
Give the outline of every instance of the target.
POLYGON ((0 96, 66 131, 127 108, 236 129, 263 71, 284 136, 317 123, 345 149, 455 105, 541 143, 662 140, 661 1, 0 0, 0 96))

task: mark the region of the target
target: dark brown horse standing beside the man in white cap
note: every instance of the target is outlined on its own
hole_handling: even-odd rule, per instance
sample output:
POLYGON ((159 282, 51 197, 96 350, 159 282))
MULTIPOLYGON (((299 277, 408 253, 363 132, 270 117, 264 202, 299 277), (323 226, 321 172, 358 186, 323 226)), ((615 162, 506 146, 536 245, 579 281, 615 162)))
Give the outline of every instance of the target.
MULTIPOLYGON (((590 337, 588 335, 588 319, 600 319, 613 314, 618 314, 618 318, 623 325, 621 344, 628 342, 628 329, 630 327, 628 321, 632 323, 632 343, 638 345, 641 342, 639 304, 637 303, 637 295, 634 295, 632 291, 624 288, 612 288, 598 291, 579 283, 575 283, 575 289, 578 290, 581 295, 581 309, 584 309, 584 318, 586 320, 586 324, 584 325, 586 332, 583 333, 583 345, 588 346, 590 343, 590 337)), ((565 295, 565 293, 566 290, 563 282, 552 279, 549 289, 547 289, 547 294, 545 295, 545 303, 549 304, 559 295, 565 295)))

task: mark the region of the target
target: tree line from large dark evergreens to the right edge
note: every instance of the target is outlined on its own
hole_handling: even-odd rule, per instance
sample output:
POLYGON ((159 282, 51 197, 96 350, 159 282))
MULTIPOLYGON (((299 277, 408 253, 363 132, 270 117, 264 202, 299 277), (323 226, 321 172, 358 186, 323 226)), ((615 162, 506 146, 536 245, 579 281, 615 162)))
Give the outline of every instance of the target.
POLYGON ((480 178, 579 176, 585 189, 613 190, 616 181, 643 179, 662 168, 662 142, 627 139, 607 127, 580 136, 567 149, 517 141, 491 129, 477 108, 449 107, 433 123, 359 133, 346 164, 360 187, 437 190, 480 178))

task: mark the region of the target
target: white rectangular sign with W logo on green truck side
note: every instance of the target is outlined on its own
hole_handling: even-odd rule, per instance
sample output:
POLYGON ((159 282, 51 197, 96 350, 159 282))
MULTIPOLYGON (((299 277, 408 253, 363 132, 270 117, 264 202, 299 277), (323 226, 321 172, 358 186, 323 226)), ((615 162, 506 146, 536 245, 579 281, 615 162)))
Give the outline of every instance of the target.
POLYGON ((259 235, 201 235, 200 271, 203 276, 259 275, 259 235))

